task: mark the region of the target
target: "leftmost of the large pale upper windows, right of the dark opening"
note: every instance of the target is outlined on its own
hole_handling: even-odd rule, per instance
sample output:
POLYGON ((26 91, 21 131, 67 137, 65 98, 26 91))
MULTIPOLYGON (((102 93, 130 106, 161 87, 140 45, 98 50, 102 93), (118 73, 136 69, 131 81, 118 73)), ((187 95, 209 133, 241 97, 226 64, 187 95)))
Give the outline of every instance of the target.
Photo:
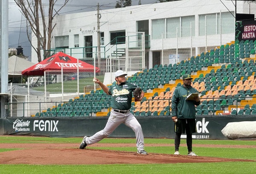
POLYGON ((152 39, 162 39, 165 36, 165 20, 152 20, 152 39))

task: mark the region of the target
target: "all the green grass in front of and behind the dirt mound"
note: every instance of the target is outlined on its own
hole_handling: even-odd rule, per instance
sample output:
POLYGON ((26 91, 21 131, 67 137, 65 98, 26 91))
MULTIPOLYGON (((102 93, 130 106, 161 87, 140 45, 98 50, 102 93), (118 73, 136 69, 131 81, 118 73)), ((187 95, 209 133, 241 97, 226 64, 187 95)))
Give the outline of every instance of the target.
MULTIPOLYGON (((82 138, 47 138, 28 136, 0 136, 1 143, 79 143, 82 138)), ((127 152, 136 152, 134 138, 105 138, 99 143, 133 143, 134 147, 90 147, 90 149, 110 149, 127 152)), ((145 150, 148 153, 173 154, 173 139, 145 139, 145 150), (147 143, 172 144, 172 146, 147 146, 147 143)), ((186 144, 186 140, 181 140, 186 144)), ((216 145, 251 145, 256 141, 250 140, 193 140, 193 144, 216 144, 216 145)), ((77 147, 75 147, 77 148, 77 147)), ((19 149, 0 149, 0 153, 19 149)), ((235 159, 256 160, 255 148, 219 148, 219 147, 193 147, 193 151, 199 156, 225 157, 235 159)), ((186 146, 180 146, 180 153, 186 154, 186 146)), ((86 158, 86 157, 85 157, 86 158)), ((27 174, 74 174, 74 173, 124 173, 124 174, 254 174, 255 162, 223 162, 223 163, 175 163, 175 164, 114 164, 114 165, 3 165, 0 164, 1 173, 27 173, 27 174)))

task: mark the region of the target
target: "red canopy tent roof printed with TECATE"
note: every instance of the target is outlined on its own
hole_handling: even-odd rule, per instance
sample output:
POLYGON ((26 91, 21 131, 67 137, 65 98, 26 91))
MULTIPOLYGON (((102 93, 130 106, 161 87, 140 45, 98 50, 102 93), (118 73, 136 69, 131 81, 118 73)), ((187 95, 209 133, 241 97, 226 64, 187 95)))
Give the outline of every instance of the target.
MULTIPOLYGON (((61 70, 61 66, 63 71, 77 72, 77 66, 79 67, 79 72, 94 72, 94 66, 88 63, 85 63, 81 60, 69 56, 65 53, 58 52, 55 55, 50 56, 49 58, 39 62, 26 70, 22 71, 22 75, 24 76, 44 76, 45 70, 61 70)), ((99 67, 95 67, 96 73, 99 73, 99 67)))

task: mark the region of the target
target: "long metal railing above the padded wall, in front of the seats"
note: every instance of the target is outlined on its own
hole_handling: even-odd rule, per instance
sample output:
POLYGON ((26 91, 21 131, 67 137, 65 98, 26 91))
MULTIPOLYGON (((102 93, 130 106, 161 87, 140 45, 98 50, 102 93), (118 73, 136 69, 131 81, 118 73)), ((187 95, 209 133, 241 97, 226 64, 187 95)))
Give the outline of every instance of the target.
MULTIPOLYGON (((254 115, 256 114, 256 104, 255 98, 253 96, 246 96, 246 97, 225 97, 225 98, 207 98, 209 105, 204 105, 204 101, 201 102, 201 105, 196 107, 197 110, 197 116, 204 115, 204 116, 216 116, 216 115, 254 115), (246 108, 249 107, 249 108, 246 108), (255 107, 255 108, 254 108, 255 107), (210 109, 212 108, 212 109, 210 109), (245 109, 247 109, 247 112, 245 109), (244 109, 243 113, 239 112, 240 109, 244 109), (250 109, 250 112, 248 112, 248 109, 250 109), (255 111, 253 112, 253 110, 255 111), (208 111, 207 113, 204 113, 204 111, 208 111), (200 114, 199 114, 200 112, 200 114)), ((46 116, 86 116, 86 117, 93 117, 97 116, 97 112, 105 112, 106 115, 109 115, 109 112, 111 110, 111 98, 108 98, 107 100, 104 99, 100 101, 101 98, 87 98, 81 99, 79 101, 79 98, 76 98, 75 100, 70 99, 70 101, 60 102, 22 102, 22 103, 9 103, 8 104, 8 110, 9 114, 7 117, 31 117, 31 116, 37 116, 37 117, 46 117, 46 116), (88 100, 88 101, 87 101, 88 100), (104 105, 103 105, 104 103, 104 105), (27 109, 32 108, 32 109, 27 109), (66 109, 64 111, 64 109, 66 109), (61 115, 59 112, 69 112, 70 115, 61 115), (78 112, 86 112, 84 115, 79 115, 78 112), (87 114, 87 115, 86 115, 87 114)), ((131 111, 134 113, 135 116, 170 116, 171 115, 171 99, 150 99, 150 100, 143 100, 140 102, 140 104, 132 103, 131 111), (161 105, 154 105, 153 103, 157 101, 158 104, 161 101, 168 101, 168 105, 166 107, 168 108, 165 110, 166 112, 169 111, 168 115, 159 115, 160 112, 166 107, 163 107, 161 105), (143 102, 146 102, 143 106, 143 102), (153 108, 157 106, 157 115, 155 115, 152 110, 153 108), (145 111, 145 115, 135 114, 135 112, 143 112, 141 109, 143 107, 146 107, 143 111, 145 111), (140 109, 138 109, 140 108, 140 109), (161 109, 159 109, 161 108, 161 109), (150 114, 148 114, 150 113, 150 114)), ((104 115, 102 115, 104 116, 104 115)))

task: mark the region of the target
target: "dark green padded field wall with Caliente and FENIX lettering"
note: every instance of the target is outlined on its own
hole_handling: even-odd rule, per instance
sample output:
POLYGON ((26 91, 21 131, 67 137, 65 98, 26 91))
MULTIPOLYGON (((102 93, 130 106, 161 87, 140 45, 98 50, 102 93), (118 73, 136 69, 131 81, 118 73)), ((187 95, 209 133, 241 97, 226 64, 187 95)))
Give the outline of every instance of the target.
MULTIPOLYGON (((174 138, 174 122, 169 117, 137 117, 145 138, 174 138)), ((1 135, 35 135, 47 137, 92 136, 104 129, 104 118, 1 118, 1 135)), ((197 133, 194 139, 226 139, 221 130, 229 122, 256 121, 255 116, 200 116, 196 119, 197 133)), ((182 138, 185 135, 182 136, 182 138)), ((113 131, 111 138, 135 138, 133 130, 124 124, 113 131)))

